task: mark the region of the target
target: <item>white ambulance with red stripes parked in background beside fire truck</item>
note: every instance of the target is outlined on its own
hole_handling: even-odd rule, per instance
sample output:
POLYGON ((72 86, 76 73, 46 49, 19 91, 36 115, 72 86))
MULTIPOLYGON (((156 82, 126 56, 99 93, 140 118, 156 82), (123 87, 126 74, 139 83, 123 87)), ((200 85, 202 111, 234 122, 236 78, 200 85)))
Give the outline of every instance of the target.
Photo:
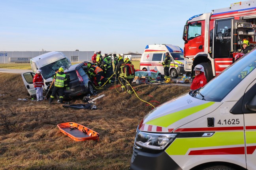
POLYGON ((170 76, 177 78, 185 74, 183 50, 171 44, 147 45, 141 56, 140 70, 156 70, 164 75, 162 62, 166 57, 166 52, 169 52, 171 56, 170 76))

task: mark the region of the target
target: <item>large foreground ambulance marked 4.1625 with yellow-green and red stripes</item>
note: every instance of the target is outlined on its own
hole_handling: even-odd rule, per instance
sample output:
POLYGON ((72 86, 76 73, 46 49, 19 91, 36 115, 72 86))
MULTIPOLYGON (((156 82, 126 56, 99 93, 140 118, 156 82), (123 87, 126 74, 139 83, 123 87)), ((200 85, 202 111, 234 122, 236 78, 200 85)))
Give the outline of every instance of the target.
POLYGON ((131 170, 256 170, 256 50, 148 113, 131 170))

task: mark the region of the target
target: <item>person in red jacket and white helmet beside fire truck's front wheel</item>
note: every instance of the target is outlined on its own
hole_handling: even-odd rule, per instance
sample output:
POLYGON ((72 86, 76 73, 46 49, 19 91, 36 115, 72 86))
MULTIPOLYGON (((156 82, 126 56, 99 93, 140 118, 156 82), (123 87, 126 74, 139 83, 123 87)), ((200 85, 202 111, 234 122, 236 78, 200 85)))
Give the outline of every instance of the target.
POLYGON ((192 81, 192 85, 190 86, 191 90, 199 89, 207 84, 207 79, 204 75, 204 68, 202 65, 196 65, 194 68, 195 71, 195 78, 192 81))

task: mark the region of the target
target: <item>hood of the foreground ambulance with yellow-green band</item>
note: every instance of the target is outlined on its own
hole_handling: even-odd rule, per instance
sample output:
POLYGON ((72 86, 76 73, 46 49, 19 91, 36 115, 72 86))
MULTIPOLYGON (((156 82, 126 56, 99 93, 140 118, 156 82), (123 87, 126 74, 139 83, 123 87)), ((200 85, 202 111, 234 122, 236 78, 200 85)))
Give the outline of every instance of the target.
POLYGON ((221 103, 209 102, 185 94, 170 100, 148 113, 140 131, 172 132, 184 124, 213 112, 221 103))

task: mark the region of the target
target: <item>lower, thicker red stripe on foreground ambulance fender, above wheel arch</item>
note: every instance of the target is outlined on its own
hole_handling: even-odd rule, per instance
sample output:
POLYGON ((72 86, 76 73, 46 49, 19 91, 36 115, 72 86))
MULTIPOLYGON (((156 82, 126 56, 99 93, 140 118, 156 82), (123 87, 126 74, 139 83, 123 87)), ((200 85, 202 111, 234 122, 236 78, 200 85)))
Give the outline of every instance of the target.
POLYGON ((188 153, 188 155, 244 155, 244 154, 245 154, 245 147, 194 150, 188 153))

